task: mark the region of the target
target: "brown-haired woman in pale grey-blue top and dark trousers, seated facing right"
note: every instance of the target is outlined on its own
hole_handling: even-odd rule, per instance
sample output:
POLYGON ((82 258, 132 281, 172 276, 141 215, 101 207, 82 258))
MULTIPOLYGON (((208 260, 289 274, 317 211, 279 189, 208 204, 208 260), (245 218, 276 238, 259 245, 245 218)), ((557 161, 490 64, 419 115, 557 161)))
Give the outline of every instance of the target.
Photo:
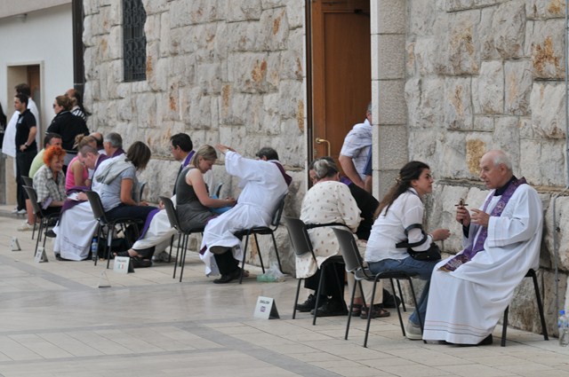
MULTIPOLYGON (((144 223, 156 207, 146 201, 137 203, 133 190, 138 186, 136 172, 145 169, 150 160, 150 148, 141 141, 134 142, 126 154, 103 161, 93 179, 92 190, 99 193, 105 216, 109 221, 125 217, 144 223)), ((139 226, 142 229, 142 226, 139 226)))

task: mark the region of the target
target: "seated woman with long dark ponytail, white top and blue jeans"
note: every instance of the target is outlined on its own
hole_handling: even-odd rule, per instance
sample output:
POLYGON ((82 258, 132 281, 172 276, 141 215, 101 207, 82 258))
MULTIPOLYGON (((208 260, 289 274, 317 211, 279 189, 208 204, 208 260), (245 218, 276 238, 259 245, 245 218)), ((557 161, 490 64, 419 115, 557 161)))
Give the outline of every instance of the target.
POLYGON ((413 259, 407 253, 406 247, 396 247, 396 244, 408 240, 410 244, 418 243, 413 250, 426 251, 432 242, 446 240, 449 237, 448 229, 437 229, 424 237, 420 228, 413 228, 405 235, 405 229, 410 225, 422 224, 425 208, 421 200, 426 193, 433 191, 433 182, 429 165, 426 163, 411 161, 405 164, 399 170, 396 185, 391 187, 380 202, 376 212, 378 216, 365 249, 365 261, 373 273, 405 271, 418 274, 420 279, 427 280, 421 298, 417 302, 419 308, 415 308, 405 329, 407 338, 412 340, 421 339, 421 324, 417 310, 421 320, 424 321, 430 275, 437 261, 413 259))

